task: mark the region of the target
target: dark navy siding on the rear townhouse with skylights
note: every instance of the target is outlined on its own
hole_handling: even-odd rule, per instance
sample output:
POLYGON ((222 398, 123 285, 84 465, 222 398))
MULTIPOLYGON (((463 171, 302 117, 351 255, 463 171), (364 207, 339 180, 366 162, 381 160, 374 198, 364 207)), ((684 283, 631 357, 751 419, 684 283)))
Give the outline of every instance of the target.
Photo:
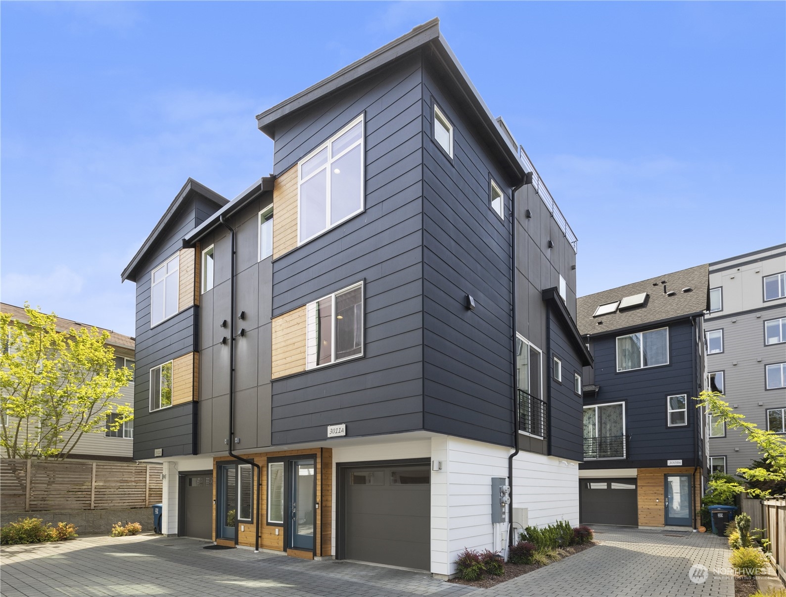
MULTIPOLYGON (((637 331, 654 327, 662 326, 637 331)), ((682 460, 684 466, 694 464, 696 408, 690 400, 696 395, 694 333, 689 321, 670 324, 669 364, 619 373, 616 370, 616 335, 592 339, 595 383, 601 389, 597 399, 585 400, 584 405, 625 402, 630 458, 587 461, 582 467, 665 467, 670 459, 682 460), (688 395, 688 425, 685 427, 667 425, 666 397, 670 394, 688 395)))

